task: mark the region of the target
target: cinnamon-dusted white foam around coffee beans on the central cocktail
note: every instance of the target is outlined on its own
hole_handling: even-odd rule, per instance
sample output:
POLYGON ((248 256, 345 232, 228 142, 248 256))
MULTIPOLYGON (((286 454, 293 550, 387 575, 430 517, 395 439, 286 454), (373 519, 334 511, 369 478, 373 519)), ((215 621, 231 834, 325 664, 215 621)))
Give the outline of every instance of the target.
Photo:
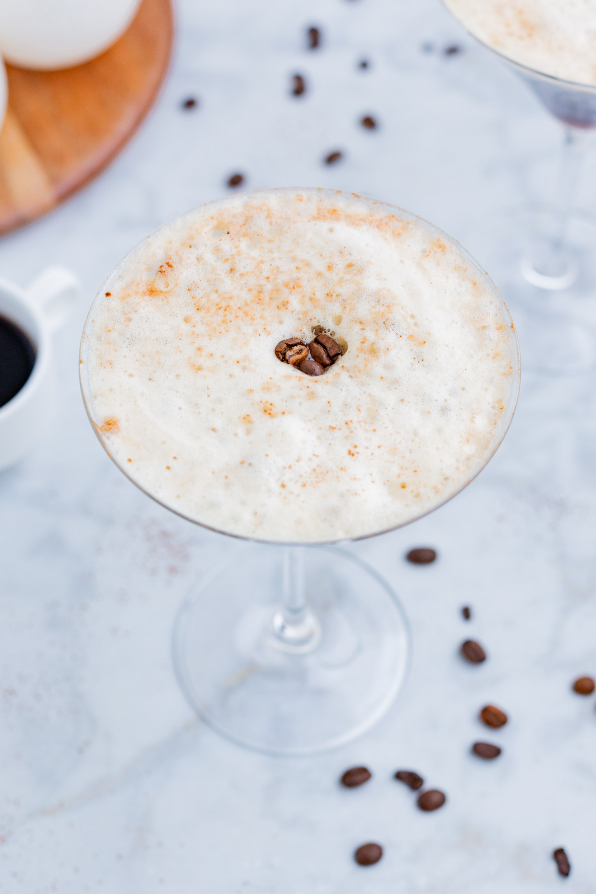
POLYGON ((506 308, 457 244, 371 199, 272 190, 199 207, 105 282, 83 336, 88 408, 147 493, 230 534, 366 536, 449 499, 517 384, 506 308), (324 375, 281 363, 323 325, 324 375))

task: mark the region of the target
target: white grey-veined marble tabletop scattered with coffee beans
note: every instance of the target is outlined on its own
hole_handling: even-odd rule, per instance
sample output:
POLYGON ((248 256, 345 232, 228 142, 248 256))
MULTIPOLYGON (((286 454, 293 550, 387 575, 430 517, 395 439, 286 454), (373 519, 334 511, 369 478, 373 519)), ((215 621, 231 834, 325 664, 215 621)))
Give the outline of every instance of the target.
MULTIPOLYGON (((551 185, 558 126, 438 0, 179 0, 172 72, 109 171, 55 214, 0 242, 26 283, 51 262, 85 289, 56 338, 60 401, 46 443, 0 475, 0 890, 10 894, 547 894, 596 890, 596 379, 526 375, 489 467, 431 517, 357 544, 412 621, 399 703, 365 738, 307 760, 233 746, 177 687, 170 630, 193 580, 233 544, 174 518, 105 456, 80 401, 88 305, 139 238, 248 185, 362 191, 457 235, 551 185), (323 29, 316 53, 304 29, 323 29), (428 42, 433 49, 424 52, 428 42), (442 49, 460 43, 464 52, 442 49), (363 57, 369 71, 357 69, 363 57), (309 90, 288 95, 290 76, 309 90), (200 98, 192 113, 180 100, 200 98), (357 126, 362 114, 381 127, 357 126), (345 161, 321 163, 335 148, 345 161), (428 568, 403 561, 432 544, 428 568), (474 607, 466 624, 461 605, 474 607), (466 666, 480 638, 490 659, 466 666), (503 755, 475 715, 510 714, 503 755), (346 767, 374 780, 340 790, 346 767), (399 767, 448 793, 422 814, 399 767), (362 869, 352 851, 385 847, 362 869), (559 879, 550 858, 573 864, 559 879)), ((596 156, 596 154, 594 154, 596 156)), ((582 201, 596 199, 596 157, 582 201)), ((523 350, 523 345, 522 345, 523 350)))

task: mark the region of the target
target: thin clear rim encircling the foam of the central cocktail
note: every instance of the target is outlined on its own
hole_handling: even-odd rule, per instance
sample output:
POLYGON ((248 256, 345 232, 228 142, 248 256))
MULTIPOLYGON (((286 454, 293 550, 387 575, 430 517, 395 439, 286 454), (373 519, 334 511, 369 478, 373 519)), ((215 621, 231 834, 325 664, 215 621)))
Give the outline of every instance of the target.
MULTIPOLYGON (((457 496, 458 493, 461 493, 463 490, 465 490, 467 485, 469 485, 472 481, 474 481, 475 477, 480 475, 480 473, 483 471, 484 468, 486 468, 486 466, 488 465, 488 463, 490 462, 490 460, 492 459, 492 457, 494 456, 496 451, 499 449, 500 444, 503 442, 503 439, 508 432, 508 428, 511 425, 511 420, 513 419, 514 413, 516 411, 517 398, 519 396, 519 388, 520 388, 520 384, 521 384, 521 358, 520 358, 520 353, 519 353, 519 342, 517 340, 516 327, 514 325, 513 319, 509 312, 509 308, 508 308, 507 304, 505 303, 505 299, 503 299, 503 296, 501 295, 499 289, 497 288, 496 284, 493 282, 491 275, 488 274, 484 270, 483 266, 481 266, 478 263, 478 261, 476 261, 476 259, 470 254, 470 252, 467 249, 465 249, 457 241, 457 239, 455 239, 453 236, 449 236, 448 233, 441 230, 434 223, 430 223, 429 221, 425 220, 424 217, 420 217, 419 215, 413 214, 412 212, 407 211, 405 208, 401 208, 397 205, 391 205, 390 202, 385 202, 385 201, 382 201, 381 199, 374 199, 369 196, 365 196, 361 193, 347 192, 345 190, 332 190, 332 189, 316 188, 316 187, 278 187, 278 188, 274 188, 274 189, 249 190, 247 194, 252 195, 252 194, 261 193, 261 192, 282 192, 282 191, 309 192, 312 194, 332 194, 332 195, 337 195, 338 193, 340 193, 340 195, 348 195, 352 198, 364 199, 365 201, 373 202, 376 205, 382 205, 383 207, 391 208, 391 209, 399 212, 401 215, 406 216, 408 219, 423 223, 424 226, 428 227, 430 230, 436 232, 439 236, 441 236, 442 238, 447 240, 449 242, 449 244, 456 246, 457 249, 461 252, 462 256, 465 257, 466 260, 470 262, 470 264, 474 267, 475 270, 478 271, 478 273, 481 276, 483 276, 483 279, 485 281, 488 281, 488 283, 491 286, 491 290, 499 298, 501 308, 503 310, 505 319, 508 323, 508 331, 510 333, 510 338, 513 340, 514 370, 513 370, 512 375, 515 377, 515 384, 513 384, 512 388, 511 388, 511 392, 509 393, 508 409, 507 409, 505 416, 502 419, 499 434, 495 438, 494 442, 492 443, 491 450, 487 451, 487 454, 483 458, 482 463, 479 465, 478 468, 476 468, 474 470, 474 473, 466 479, 464 484, 458 486, 456 488, 456 490, 454 490, 453 493, 449 493, 449 496, 445 497, 444 500, 437 503, 436 506, 432 506, 431 509, 424 510, 424 512, 420 512, 418 515, 414 516, 413 518, 407 519, 407 521, 402 521, 402 522, 399 522, 399 524, 391 525, 390 527, 382 528, 381 530, 372 531, 370 533, 362 534, 359 536, 341 537, 341 538, 335 539, 335 540, 315 540, 315 541, 267 540, 262 537, 252 537, 252 536, 246 536, 246 535, 242 535, 242 534, 234 534, 231 531, 223 530, 221 527, 214 527, 213 525, 209 525, 204 521, 192 519, 192 518, 190 518, 189 515, 186 515, 184 512, 173 508, 168 503, 166 503, 166 502, 160 500, 158 497, 156 497, 155 494, 147 491, 147 489, 143 485, 140 485, 139 482, 137 482, 130 475, 129 471, 126 468, 124 468, 124 466, 118 460, 114 459, 112 453, 109 450, 109 445, 107 443, 105 443, 105 441, 100 433, 100 428, 97 425, 96 419, 93 415, 93 410, 92 410, 92 406, 91 406, 91 395, 88 390, 88 381, 87 381, 87 377, 85 375, 85 372, 88 369, 88 364, 86 362, 87 356, 88 356, 88 327, 93 322, 92 318, 91 318, 93 315, 93 308, 95 308, 95 306, 96 306, 97 299, 101 299, 102 292, 104 291, 104 285, 107 282, 107 280, 109 280, 110 276, 113 273, 113 270, 115 270, 116 267, 120 266, 120 264, 122 264, 122 262, 126 259, 126 257, 128 257, 141 244, 141 242, 144 241, 144 239, 140 240, 137 243, 137 246, 134 246, 132 249, 130 249, 130 251, 127 252, 126 255, 124 255, 124 257, 122 257, 121 261, 119 261, 118 264, 113 267, 113 270, 106 277, 104 283, 102 283, 102 285, 100 286, 99 291, 97 291, 96 297, 93 299, 93 301, 91 303, 91 307, 88 310, 88 315, 87 315, 87 317, 85 319, 85 323, 83 325, 83 331, 82 331, 81 338, 80 338, 80 350, 79 350, 79 381, 80 381, 80 392, 81 392, 83 404, 85 406, 85 410, 87 412, 88 420, 91 423, 91 426, 97 436, 97 440, 99 441, 99 443, 101 443, 102 447, 104 448, 105 452, 109 456, 110 460, 112 460, 113 464, 116 466, 116 468, 118 468, 122 472, 122 475, 127 477, 128 480, 133 485, 135 485, 135 487, 139 488, 139 491, 141 491, 142 493, 145 493, 146 496, 150 497, 154 502, 158 503, 160 506, 163 506, 164 509, 167 509, 170 512, 173 512, 174 515, 179 516, 181 519, 186 519, 187 521, 192 522, 192 524, 194 524, 194 525, 198 525, 199 527, 204 527, 208 531, 213 531, 215 534, 222 534, 222 535, 225 535, 228 537, 234 537, 237 540, 246 541, 248 543, 269 544, 269 545, 275 545, 275 546, 333 546, 336 544, 351 543, 351 542, 356 542, 359 540, 368 540, 371 537, 382 536, 383 534, 390 534, 391 531, 396 531, 400 527, 406 527, 407 525, 412 524, 412 522, 418 521, 419 519, 423 519, 424 516, 430 515, 431 512, 441 509, 441 506, 444 506, 446 503, 453 500, 453 498, 455 496, 457 496)), ((236 195, 241 195, 241 194, 242 193, 237 193, 236 195)), ((199 205, 196 207, 205 207, 208 205, 214 205, 221 201, 222 201, 222 199, 214 199, 211 202, 205 202, 202 205, 199 205)), ((184 214, 178 215, 178 217, 172 218, 172 221, 164 223, 164 224, 162 224, 162 226, 168 226, 168 225, 170 225, 170 223, 173 223, 176 220, 180 220, 181 217, 184 217, 185 215, 189 214, 189 211, 191 211, 191 210, 193 210, 193 209, 189 208, 189 210, 184 212, 184 214)), ((160 230, 160 229, 161 229, 161 227, 157 227, 156 230, 153 232, 157 232, 157 230, 160 230)), ((149 235, 151 235, 151 234, 149 234, 149 235)), ((145 237, 145 238, 147 238, 147 237, 145 237)))

